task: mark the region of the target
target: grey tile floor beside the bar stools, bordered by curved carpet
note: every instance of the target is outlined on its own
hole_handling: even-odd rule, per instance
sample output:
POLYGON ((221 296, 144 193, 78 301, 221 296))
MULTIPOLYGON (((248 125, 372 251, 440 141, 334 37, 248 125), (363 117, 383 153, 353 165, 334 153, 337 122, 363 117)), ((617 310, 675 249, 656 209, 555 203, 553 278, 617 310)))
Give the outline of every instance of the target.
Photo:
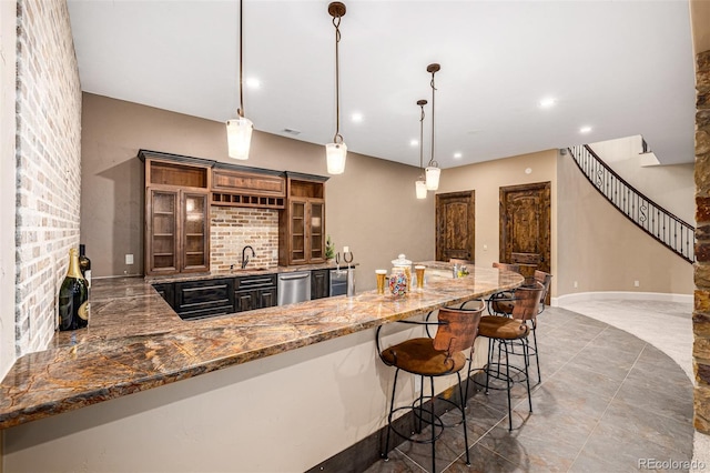
MULTIPOLYGON (((616 305, 617 316, 620 306, 626 303, 616 305)), ((651 339, 667 334, 656 325, 651 339)), ((477 392, 467 410, 471 466, 455 427, 437 442, 437 471, 633 472, 647 470, 639 463, 646 459, 690 462, 692 383, 674 360, 623 330, 560 308, 540 315, 538 342, 542 382, 534 386, 534 413, 516 385, 509 432, 505 392, 477 392)), ((430 467, 430 446, 405 442, 367 472, 430 467)))

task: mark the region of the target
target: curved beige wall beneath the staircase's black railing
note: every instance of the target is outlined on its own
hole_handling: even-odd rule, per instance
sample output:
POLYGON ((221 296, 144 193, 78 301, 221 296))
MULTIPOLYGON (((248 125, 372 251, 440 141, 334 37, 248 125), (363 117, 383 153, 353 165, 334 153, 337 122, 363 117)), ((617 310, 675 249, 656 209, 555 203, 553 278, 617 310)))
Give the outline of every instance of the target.
POLYGON ((569 154, 558 163, 558 295, 595 291, 692 293, 691 264, 617 212, 569 154), (633 281, 639 281, 638 288, 633 281))

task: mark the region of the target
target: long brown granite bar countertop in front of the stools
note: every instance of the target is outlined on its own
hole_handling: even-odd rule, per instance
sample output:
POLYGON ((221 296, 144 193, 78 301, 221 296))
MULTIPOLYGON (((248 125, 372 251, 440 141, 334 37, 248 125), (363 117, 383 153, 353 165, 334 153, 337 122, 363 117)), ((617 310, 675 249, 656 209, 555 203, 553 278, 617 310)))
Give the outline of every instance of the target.
MULTIPOLYGON (((182 320, 143 278, 97 280, 89 328, 57 332, 0 384, 0 429, 295 350, 480 298, 523 276, 425 262, 427 283, 405 298, 362 292, 201 320, 182 320)), ((154 282, 154 281, 153 281, 154 282)))

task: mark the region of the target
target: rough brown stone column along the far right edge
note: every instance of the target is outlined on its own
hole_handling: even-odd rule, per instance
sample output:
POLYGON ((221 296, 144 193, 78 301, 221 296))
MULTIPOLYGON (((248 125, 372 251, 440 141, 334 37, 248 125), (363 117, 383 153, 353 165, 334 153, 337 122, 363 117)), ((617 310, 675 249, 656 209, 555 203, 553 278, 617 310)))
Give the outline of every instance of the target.
POLYGON ((710 51, 697 56, 694 426, 710 434, 710 51))

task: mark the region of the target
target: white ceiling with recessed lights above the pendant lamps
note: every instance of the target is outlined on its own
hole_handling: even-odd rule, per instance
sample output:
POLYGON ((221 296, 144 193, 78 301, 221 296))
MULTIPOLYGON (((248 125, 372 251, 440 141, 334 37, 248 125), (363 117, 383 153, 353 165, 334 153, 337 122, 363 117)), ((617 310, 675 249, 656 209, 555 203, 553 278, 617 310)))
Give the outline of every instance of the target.
MULTIPOLYGON (((426 163, 426 67, 439 62, 435 143, 443 168, 636 134, 662 163, 693 160, 687 0, 345 4, 341 133, 351 151, 418 165, 410 141, 419 137, 416 101, 427 99, 426 163), (541 109, 547 97, 557 103, 541 109), (362 122, 351 120, 354 112, 362 122), (585 125, 592 128, 586 135, 585 125)), ((244 1, 244 78, 261 83, 245 88, 244 105, 257 130, 333 140, 327 6, 244 1)), ((69 0, 69 10, 82 90, 210 120, 235 115, 237 1, 69 0)))

